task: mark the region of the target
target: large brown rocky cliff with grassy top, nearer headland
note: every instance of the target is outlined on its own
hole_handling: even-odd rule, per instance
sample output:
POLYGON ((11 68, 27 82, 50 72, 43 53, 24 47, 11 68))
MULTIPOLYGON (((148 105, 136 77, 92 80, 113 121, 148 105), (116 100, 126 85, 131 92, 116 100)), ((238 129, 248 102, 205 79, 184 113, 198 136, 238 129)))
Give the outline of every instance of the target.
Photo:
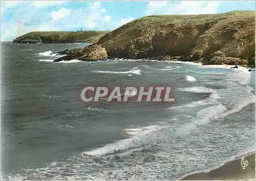
MULTIPOLYGON (((254 11, 146 16, 102 36, 108 57, 255 65, 254 11)), ((66 59, 69 60, 69 59, 66 59)))

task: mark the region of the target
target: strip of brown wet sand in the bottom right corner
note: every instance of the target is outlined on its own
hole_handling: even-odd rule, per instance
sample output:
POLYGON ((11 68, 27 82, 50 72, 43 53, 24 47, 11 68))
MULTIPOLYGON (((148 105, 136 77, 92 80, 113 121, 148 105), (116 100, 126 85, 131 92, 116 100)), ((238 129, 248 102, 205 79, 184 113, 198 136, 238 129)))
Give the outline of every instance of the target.
POLYGON ((255 180, 255 152, 244 156, 249 165, 242 169, 241 157, 208 172, 191 173, 180 180, 255 180))

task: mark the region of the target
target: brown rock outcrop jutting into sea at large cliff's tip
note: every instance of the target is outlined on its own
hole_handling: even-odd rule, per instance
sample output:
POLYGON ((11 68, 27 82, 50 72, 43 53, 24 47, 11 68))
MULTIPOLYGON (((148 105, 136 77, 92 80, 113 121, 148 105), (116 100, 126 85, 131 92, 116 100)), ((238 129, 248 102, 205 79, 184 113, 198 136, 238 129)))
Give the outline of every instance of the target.
POLYGON ((92 44, 83 49, 73 49, 65 50, 62 52, 57 52, 58 55, 66 55, 64 57, 54 60, 54 62, 59 61, 69 61, 73 59, 78 59, 82 61, 96 61, 96 60, 105 60, 108 58, 105 48, 102 48, 98 44, 92 44))

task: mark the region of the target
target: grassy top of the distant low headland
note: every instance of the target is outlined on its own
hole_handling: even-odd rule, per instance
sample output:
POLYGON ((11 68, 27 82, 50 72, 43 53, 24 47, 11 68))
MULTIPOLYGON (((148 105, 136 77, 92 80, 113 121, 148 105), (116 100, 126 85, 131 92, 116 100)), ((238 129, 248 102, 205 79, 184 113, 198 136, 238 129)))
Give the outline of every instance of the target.
POLYGON ((27 37, 32 35, 40 37, 42 40, 52 40, 54 41, 86 41, 88 43, 97 42, 102 36, 110 31, 78 31, 78 32, 69 32, 69 31, 35 31, 27 33, 19 38, 27 37))

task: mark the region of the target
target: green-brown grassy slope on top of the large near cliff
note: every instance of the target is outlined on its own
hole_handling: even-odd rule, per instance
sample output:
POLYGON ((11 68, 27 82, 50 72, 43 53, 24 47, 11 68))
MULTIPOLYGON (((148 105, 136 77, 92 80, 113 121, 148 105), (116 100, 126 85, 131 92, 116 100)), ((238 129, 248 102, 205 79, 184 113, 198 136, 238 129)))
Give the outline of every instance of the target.
POLYGON ((208 32, 210 34, 221 27, 226 27, 227 24, 228 26, 234 26, 237 23, 240 24, 245 21, 254 22, 254 18, 254 11, 231 11, 227 13, 199 15, 150 15, 135 19, 119 27, 101 37, 97 43, 101 44, 112 40, 111 42, 106 42, 104 47, 117 47, 113 42, 118 44, 126 43, 144 34, 151 34, 152 36, 156 31, 181 31, 186 27, 206 27, 206 24, 208 24, 209 27, 211 27, 211 25, 217 25, 208 32))

